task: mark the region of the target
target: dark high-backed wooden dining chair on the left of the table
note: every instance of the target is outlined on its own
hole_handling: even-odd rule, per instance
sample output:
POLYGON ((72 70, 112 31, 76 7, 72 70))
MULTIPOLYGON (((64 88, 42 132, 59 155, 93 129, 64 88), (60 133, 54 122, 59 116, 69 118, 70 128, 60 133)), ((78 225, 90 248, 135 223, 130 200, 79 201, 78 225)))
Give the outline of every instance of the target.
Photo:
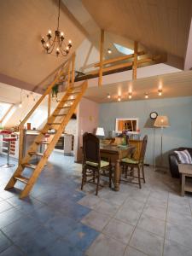
POLYGON ((85 132, 83 135, 83 164, 82 164, 82 183, 81 189, 84 188, 84 183, 96 184, 96 195, 100 185, 100 176, 106 176, 108 172, 109 187, 112 183, 112 168, 110 161, 101 160, 100 156, 100 141, 92 133, 85 132), (88 179, 90 177, 90 179, 88 179))

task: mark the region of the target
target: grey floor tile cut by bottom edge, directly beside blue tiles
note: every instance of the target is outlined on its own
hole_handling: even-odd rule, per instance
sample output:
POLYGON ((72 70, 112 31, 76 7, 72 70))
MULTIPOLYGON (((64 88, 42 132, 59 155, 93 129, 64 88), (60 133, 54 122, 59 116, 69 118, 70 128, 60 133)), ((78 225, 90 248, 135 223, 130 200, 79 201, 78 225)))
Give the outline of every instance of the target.
POLYGON ((125 253, 125 245, 119 241, 114 240, 101 234, 97 236, 96 240, 91 244, 86 251, 86 256, 123 256, 125 253))

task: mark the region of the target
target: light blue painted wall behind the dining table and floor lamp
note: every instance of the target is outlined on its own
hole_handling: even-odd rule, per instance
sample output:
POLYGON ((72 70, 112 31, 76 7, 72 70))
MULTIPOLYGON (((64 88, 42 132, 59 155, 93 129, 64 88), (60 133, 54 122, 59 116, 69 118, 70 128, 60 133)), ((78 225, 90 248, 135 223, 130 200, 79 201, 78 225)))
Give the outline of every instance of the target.
POLYGON ((192 97, 113 102, 100 104, 99 125, 109 131, 115 130, 116 118, 138 118, 142 137, 148 135, 146 163, 158 166, 160 160, 160 129, 153 127, 149 113, 156 111, 167 115, 170 127, 163 131, 164 166, 168 166, 167 154, 172 148, 188 146, 192 148, 192 97))

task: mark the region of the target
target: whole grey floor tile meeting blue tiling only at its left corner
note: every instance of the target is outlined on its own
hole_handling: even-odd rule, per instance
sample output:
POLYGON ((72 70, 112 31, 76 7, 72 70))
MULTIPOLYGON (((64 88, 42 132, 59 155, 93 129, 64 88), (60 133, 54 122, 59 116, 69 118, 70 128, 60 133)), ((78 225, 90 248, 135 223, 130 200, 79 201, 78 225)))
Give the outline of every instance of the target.
POLYGON ((125 224, 119 220, 112 218, 108 225, 102 230, 102 233, 127 244, 134 230, 131 224, 125 224))

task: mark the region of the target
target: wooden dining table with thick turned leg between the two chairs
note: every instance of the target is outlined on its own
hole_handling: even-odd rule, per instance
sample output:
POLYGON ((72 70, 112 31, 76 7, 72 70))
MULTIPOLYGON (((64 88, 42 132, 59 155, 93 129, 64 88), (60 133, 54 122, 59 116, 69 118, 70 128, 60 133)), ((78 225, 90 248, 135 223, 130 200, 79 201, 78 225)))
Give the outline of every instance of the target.
POLYGON ((136 150, 132 145, 112 145, 112 144, 100 144, 100 155, 102 159, 108 159, 114 164, 113 183, 114 190, 119 191, 120 186, 120 160, 131 156, 136 150))

